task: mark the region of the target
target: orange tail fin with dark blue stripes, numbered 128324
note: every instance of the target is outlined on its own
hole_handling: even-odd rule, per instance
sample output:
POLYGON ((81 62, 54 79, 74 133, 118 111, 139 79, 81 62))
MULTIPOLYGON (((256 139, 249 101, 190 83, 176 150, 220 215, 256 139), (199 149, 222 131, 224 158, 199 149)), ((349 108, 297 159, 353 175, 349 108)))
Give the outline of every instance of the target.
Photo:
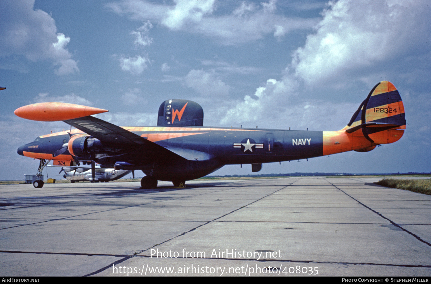
POLYGON ((381 81, 374 86, 343 130, 347 133, 361 130, 370 142, 387 144, 399 140, 405 128, 400 93, 392 83, 381 81))

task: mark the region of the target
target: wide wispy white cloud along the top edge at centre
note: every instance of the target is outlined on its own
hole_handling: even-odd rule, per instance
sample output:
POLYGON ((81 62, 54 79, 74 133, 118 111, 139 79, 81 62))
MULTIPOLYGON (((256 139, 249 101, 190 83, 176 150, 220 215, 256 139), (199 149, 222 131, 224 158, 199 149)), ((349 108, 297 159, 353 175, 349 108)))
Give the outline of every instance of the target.
POLYGON ((290 19, 278 14, 274 0, 259 6, 244 1, 231 14, 221 16, 213 13, 215 0, 175 0, 172 5, 123 0, 107 6, 135 20, 155 20, 171 30, 204 34, 227 45, 256 41, 272 33, 281 39, 281 34, 310 29, 318 22, 317 19, 290 19))

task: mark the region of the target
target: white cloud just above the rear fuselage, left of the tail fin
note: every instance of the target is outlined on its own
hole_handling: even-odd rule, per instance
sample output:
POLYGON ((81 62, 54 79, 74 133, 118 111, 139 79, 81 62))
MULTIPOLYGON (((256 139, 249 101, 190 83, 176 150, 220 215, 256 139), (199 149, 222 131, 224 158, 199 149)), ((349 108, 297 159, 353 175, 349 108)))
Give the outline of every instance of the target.
POLYGON ((256 88, 254 96, 227 110, 222 125, 242 124, 245 127, 260 125, 265 128, 292 128, 296 130, 338 130, 349 122, 358 108, 355 103, 331 103, 323 100, 306 100, 291 103, 297 95, 298 83, 289 78, 282 81, 269 79, 265 86, 256 88))

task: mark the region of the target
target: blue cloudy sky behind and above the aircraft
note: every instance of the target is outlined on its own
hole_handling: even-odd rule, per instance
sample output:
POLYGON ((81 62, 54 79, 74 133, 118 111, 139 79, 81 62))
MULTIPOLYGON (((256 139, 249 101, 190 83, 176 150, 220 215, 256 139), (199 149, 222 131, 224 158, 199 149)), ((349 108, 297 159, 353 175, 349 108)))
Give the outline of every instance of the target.
POLYGON ((38 160, 16 149, 69 128, 13 114, 27 104, 94 106, 116 125, 153 126, 160 103, 177 98, 203 107, 204 126, 334 131, 383 80, 403 99, 399 141, 259 174, 431 172, 429 15, 428 0, 1 1, 0 180, 35 174, 38 160))

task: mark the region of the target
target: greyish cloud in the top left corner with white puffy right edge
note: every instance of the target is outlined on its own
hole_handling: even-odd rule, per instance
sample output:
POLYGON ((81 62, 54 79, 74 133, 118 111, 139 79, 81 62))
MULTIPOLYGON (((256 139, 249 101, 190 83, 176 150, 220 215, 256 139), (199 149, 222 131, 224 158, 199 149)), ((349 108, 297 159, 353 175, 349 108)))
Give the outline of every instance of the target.
POLYGON ((77 62, 66 49, 70 37, 57 32, 54 19, 34 10, 34 0, 2 2, 0 17, 0 56, 22 55, 37 62, 51 60, 57 75, 79 72, 77 62))

